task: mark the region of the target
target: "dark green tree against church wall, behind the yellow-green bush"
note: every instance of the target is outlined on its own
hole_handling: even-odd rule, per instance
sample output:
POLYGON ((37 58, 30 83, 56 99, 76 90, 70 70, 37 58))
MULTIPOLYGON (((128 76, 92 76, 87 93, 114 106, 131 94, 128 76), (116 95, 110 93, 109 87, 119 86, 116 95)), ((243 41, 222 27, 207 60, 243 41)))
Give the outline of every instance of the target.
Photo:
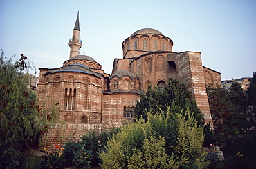
POLYGON ((149 86, 146 95, 141 95, 140 101, 137 101, 134 108, 135 117, 140 119, 143 117, 147 121, 147 111, 158 114, 167 112, 170 109, 172 112, 183 112, 181 110, 190 110, 199 125, 203 125, 203 114, 197 108, 196 101, 192 99, 192 95, 185 88, 185 85, 179 83, 176 79, 171 78, 169 84, 165 88, 156 86, 152 89, 149 86))

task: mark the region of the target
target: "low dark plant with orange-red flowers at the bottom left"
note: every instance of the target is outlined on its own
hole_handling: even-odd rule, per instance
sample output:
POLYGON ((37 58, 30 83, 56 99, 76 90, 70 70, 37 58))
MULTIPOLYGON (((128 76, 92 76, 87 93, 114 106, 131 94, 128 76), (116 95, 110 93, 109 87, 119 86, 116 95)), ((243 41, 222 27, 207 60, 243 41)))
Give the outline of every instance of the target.
POLYGON ((55 145, 55 150, 48 151, 44 148, 44 155, 40 168, 62 168, 64 166, 64 155, 62 151, 64 148, 55 145))

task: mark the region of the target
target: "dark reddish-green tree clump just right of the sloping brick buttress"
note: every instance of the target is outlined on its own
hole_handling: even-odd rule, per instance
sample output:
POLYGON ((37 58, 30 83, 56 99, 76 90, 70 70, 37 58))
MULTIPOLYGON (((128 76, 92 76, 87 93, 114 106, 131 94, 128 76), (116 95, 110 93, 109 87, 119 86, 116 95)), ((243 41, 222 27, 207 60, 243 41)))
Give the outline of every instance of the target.
POLYGON ((232 142, 249 127, 246 123, 246 97, 241 85, 233 82, 229 89, 218 84, 207 86, 215 143, 232 142))

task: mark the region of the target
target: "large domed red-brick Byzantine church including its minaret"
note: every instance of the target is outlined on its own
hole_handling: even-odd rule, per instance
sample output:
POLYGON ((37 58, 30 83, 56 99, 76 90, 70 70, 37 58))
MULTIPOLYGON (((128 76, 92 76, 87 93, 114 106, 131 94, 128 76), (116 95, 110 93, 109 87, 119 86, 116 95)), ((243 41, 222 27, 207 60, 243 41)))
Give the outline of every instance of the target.
MULTIPOLYGON (((108 39, 103 40, 108 43, 108 39)), ((37 90, 40 103, 58 103, 67 139, 79 139, 88 131, 110 130, 132 121, 140 94, 147 91, 149 84, 163 88, 170 77, 185 83, 205 122, 212 121, 205 83, 220 84, 221 73, 202 66, 200 52, 172 52, 169 37, 152 28, 140 29, 122 42, 123 56, 114 59, 110 75, 92 57, 79 54, 82 41, 78 15, 68 44, 69 59, 62 67, 39 68, 37 90)), ((46 147, 57 142, 56 130, 48 132, 46 147)))

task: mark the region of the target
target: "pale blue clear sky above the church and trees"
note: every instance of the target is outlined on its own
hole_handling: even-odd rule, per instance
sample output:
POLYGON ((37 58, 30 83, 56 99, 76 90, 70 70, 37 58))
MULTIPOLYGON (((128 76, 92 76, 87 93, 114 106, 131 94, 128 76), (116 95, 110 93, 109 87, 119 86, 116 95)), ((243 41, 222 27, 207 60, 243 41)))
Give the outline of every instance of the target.
POLYGON ((37 68, 59 68, 69 58, 77 11, 80 54, 108 74, 122 58, 122 41, 142 28, 172 39, 173 52, 201 52, 203 66, 221 80, 256 72, 255 0, 0 0, 0 49, 15 59, 25 54, 37 68))

